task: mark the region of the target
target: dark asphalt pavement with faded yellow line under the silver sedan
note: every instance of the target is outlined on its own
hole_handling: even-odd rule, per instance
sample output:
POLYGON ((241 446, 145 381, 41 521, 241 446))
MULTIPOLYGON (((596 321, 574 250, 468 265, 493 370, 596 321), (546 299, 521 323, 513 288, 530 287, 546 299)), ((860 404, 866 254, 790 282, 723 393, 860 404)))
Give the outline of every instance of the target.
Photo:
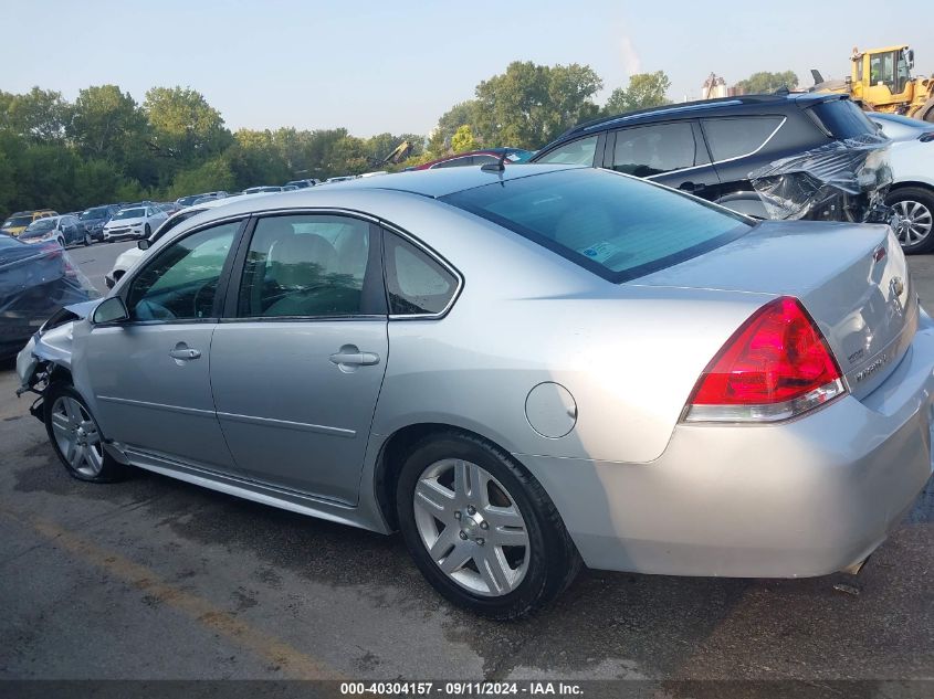
MULTIPOLYGON (((132 245, 70 253, 103 289, 132 245)), ((911 264, 934 308, 932 260, 911 264)), ((445 604, 398 536, 145 472, 74 480, 15 383, 0 368, 0 679, 934 679, 930 483, 857 578, 589 571, 503 624, 445 604)))

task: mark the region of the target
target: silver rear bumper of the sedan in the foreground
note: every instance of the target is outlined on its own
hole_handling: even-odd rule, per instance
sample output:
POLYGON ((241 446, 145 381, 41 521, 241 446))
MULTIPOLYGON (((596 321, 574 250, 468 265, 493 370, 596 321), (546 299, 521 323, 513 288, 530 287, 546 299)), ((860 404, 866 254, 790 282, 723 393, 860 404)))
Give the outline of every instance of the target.
POLYGON ((516 455, 591 568, 797 578, 869 555, 932 473, 934 324, 862 401, 780 425, 679 425, 646 464, 516 455))

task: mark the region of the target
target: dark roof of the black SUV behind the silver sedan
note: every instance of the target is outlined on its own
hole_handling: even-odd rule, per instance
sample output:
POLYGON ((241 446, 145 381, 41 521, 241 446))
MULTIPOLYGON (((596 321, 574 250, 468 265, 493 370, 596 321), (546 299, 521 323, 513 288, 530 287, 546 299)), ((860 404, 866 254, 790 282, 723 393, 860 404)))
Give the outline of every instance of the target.
POLYGON ((716 99, 700 99, 696 102, 676 103, 584 121, 583 124, 578 124, 577 126, 569 128, 552 142, 555 144, 575 136, 583 136, 585 134, 596 134, 606 128, 623 124, 629 125, 676 118, 692 118, 697 115, 726 116, 755 112, 760 107, 768 106, 787 107, 789 105, 795 105, 799 108, 805 108, 811 104, 831 102, 835 99, 849 99, 849 96, 839 93, 778 93, 772 95, 739 95, 735 97, 718 97, 716 99))

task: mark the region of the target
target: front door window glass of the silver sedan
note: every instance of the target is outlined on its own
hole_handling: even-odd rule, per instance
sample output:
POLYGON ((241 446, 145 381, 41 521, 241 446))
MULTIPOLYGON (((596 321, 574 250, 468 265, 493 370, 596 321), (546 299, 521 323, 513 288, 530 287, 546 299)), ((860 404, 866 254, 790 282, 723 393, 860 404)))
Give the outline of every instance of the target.
POLYGON ((133 280, 134 320, 196 320, 213 316, 214 296, 239 222, 188 235, 161 251, 133 280))

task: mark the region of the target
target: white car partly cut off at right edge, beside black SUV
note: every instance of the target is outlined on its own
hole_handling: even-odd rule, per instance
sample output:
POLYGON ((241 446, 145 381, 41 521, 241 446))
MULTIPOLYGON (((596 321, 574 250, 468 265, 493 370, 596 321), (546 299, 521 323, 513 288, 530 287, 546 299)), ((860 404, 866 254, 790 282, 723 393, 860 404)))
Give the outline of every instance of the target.
POLYGON ((934 125, 894 114, 869 114, 892 139, 893 182, 885 203, 895 213, 895 235, 906 254, 934 250, 934 125))

